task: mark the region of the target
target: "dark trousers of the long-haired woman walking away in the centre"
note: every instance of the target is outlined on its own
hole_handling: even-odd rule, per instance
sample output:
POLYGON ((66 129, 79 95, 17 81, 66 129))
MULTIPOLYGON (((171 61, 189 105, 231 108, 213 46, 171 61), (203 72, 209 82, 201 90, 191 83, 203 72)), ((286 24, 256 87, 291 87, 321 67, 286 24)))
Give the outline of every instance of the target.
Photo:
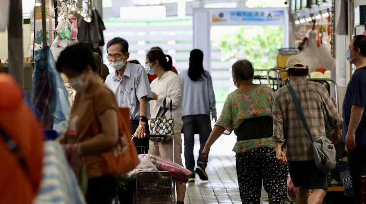
POLYGON ((195 176, 194 172, 194 155, 193 155, 193 147, 194 147, 194 134, 200 135, 200 150, 198 153, 197 164, 201 164, 206 168, 207 163, 202 160, 202 150, 206 145, 207 139, 210 136, 212 131, 211 129, 211 120, 207 115, 190 115, 184 116, 183 119, 183 128, 182 131, 184 133, 184 158, 186 160, 186 168, 190 170, 191 176, 195 176))

